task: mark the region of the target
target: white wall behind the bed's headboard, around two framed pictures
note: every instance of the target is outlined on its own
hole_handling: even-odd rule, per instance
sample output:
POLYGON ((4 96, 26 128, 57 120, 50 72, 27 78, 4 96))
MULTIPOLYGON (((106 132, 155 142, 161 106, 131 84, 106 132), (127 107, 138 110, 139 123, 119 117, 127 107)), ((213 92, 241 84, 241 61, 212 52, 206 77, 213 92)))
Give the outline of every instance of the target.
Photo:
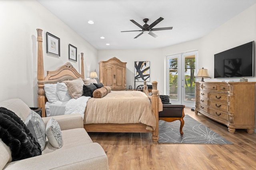
POLYGON ((43 29, 45 70, 69 61, 69 43, 77 47, 78 61, 69 62, 78 72, 80 53, 84 53, 86 77, 98 68, 98 51, 36 0, 0 1, 0 16, 0 101, 21 98, 29 106, 37 106, 37 28, 43 29), (60 57, 46 53, 46 32, 60 38, 60 57))

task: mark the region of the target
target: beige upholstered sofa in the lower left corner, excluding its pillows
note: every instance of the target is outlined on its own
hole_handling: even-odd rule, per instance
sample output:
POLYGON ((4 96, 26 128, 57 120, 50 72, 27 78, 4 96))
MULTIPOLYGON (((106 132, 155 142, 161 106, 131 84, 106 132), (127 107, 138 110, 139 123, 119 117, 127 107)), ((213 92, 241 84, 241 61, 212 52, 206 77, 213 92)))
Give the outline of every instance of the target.
MULTIPOLYGON (((20 99, 10 99, 0 102, 18 115, 22 121, 30 113, 30 108, 20 99)), ((43 117, 46 125, 50 117, 43 117)), ((11 151, 0 139, 0 169, 8 170, 108 170, 108 158, 98 143, 93 143, 83 128, 83 119, 80 115, 55 116, 62 133, 63 145, 60 149, 54 148, 46 141, 42 155, 13 161, 11 151)))

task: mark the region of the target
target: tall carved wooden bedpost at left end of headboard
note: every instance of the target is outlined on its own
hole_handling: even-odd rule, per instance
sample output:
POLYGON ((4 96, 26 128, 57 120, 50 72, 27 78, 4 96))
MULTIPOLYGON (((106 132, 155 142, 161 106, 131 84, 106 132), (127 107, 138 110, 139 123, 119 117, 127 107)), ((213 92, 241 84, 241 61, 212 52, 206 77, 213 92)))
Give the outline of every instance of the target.
POLYGON ((46 117, 45 115, 45 97, 44 97, 44 59, 43 59, 43 37, 42 37, 42 29, 37 30, 37 84, 38 84, 38 107, 42 107, 42 117, 46 117))

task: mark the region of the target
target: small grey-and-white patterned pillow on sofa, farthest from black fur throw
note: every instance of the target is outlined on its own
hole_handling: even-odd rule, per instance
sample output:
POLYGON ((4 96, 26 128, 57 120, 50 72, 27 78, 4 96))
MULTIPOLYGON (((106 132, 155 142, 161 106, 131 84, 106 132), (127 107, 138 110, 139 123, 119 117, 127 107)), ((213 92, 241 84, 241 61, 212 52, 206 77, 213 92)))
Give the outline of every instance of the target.
POLYGON ((62 141, 60 125, 53 117, 47 122, 46 136, 53 147, 55 148, 62 147, 63 141, 62 141))

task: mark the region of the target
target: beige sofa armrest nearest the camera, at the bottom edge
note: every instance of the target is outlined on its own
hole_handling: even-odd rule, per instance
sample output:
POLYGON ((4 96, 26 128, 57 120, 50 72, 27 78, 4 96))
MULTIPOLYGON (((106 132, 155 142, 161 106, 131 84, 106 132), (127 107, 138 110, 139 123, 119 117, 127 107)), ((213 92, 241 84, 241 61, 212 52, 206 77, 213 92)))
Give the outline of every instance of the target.
POLYGON ((32 158, 6 164, 5 169, 73 169, 108 170, 108 158, 98 143, 58 149, 32 158))

